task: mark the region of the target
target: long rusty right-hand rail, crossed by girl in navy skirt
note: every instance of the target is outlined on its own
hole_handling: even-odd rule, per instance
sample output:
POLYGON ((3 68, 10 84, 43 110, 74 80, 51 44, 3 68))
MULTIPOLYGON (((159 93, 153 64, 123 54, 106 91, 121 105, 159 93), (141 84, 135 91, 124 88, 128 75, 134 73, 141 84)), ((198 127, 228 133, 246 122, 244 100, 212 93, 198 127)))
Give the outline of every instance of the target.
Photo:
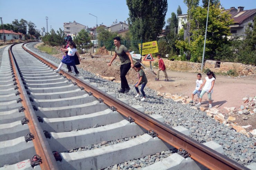
MULTIPOLYGON (((23 46, 24 47, 24 46, 23 46)), ((26 49, 24 47, 24 49, 26 49)), ((48 64, 53 68, 57 68, 54 64, 49 63, 47 60, 37 56, 32 51, 26 49, 27 52, 38 57, 40 60, 48 64)), ((218 153, 217 151, 204 146, 203 144, 195 141, 192 138, 189 138, 174 130, 173 128, 167 126, 164 123, 161 123, 143 112, 138 111, 137 109, 129 106, 128 104, 121 102, 120 100, 110 96, 107 93, 93 87, 92 85, 85 83, 83 80, 69 74, 65 70, 61 70, 60 73, 63 76, 71 79, 72 82, 76 82, 77 86, 80 88, 83 87, 85 91, 91 92, 94 97, 100 98, 108 106, 114 106, 117 111, 123 114, 125 117, 131 117, 134 119, 135 123, 143 127, 146 130, 154 130, 157 133, 157 137, 170 144, 171 146, 177 149, 184 149, 189 153, 190 158, 201 163, 203 166, 212 169, 212 170, 249 170, 245 166, 235 162, 234 160, 229 159, 228 157, 218 153)))

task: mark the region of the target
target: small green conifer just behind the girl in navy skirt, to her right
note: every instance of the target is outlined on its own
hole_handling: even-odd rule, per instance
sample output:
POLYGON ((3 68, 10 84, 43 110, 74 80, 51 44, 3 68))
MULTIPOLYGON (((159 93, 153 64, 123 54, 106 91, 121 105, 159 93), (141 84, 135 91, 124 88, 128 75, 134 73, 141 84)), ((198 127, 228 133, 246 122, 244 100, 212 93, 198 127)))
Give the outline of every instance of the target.
POLYGON ((83 53, 83 49, 88 49, 93 46, 89 34, 84 29, 77 33, 77 36, 74 37, 74 42, 76 43, 79 53, 83 53))

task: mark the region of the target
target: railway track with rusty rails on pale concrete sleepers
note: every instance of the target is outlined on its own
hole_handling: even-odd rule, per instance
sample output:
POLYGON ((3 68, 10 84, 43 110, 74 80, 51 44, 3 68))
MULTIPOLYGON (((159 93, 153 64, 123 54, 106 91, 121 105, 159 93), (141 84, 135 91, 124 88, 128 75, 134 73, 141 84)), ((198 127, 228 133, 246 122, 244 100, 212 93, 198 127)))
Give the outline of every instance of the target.
POLYGON ((175 148, 177 153, 143 169, 248 169, 213 150, 211 142, 213 149, 187 137, 185 128, 170 128, 161 116, 54 69, 26 44, 4 50, 0 170, 104 169, 175 148))

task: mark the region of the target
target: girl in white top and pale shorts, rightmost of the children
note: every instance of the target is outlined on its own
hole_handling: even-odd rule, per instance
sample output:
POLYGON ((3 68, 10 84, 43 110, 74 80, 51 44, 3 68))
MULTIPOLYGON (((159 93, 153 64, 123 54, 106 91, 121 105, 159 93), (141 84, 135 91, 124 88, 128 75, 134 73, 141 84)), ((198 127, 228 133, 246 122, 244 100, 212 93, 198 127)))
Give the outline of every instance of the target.
POLYGON ((216 80, 216 76, 212 71, 208 71, 206 73, 207 77, 205 77, 205 80, 203 82, 203 84, 201 84, 199 90, 202 89, 202 92, 200 93, 200 98, 199 98, 199 103, 197 103, 195 106, 201 106, 201 101, 202 101, 202 97, 204 95, 204 93, 207 92, 208 94, 208 99, 209 99, 209 108, 212 108, 212 99, 211 99, 211 94, 213 93, 213 86, 214 86, 214 82, 216 80))

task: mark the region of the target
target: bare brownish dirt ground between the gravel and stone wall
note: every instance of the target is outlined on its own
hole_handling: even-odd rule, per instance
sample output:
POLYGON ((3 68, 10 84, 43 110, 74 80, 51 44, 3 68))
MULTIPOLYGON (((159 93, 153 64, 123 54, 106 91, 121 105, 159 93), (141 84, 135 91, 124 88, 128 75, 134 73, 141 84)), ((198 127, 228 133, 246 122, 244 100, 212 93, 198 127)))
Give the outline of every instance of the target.
MULTIPOLYGON (((55 55, 61 58, 61 54, 55 55)), ((98 73, 101 76, 115 77, 117 81, 120 80, 120 60, 117 59, 109 67, 108 63, 111 60, 110 55, 97 55, 92 54, 93 58, 89 53, 80 54, 82 62, 78 67, 84 70, 90 71, 92 73, 98 73), (98 67, 97 67, 98 66, 98 67)), ((153 69, 155 72, 157 68, 153 69)), ((188 96, 191 99, 191 93, 195 89, 195 81, 197 79, 197 73, 189 72, 177 72, 167 70, 169 81, 164 81, 164 74, 160 72, 160 80, 155 81, 155 74, 150 71, 150 68, 144 69, 148 79, 147 87, 159 91, 161 93, 168 92, 171 94, 179 94, 182 96, 188 96)), ((132 69, 127 74, 127 80, 130 84, 135 84, 137 82, 136 72, 132 69)), ((202 80, 206 77, 206 74, 202 74, 202 80)), ((224 107, 235 107, 236 111, 241 110, 240 106, 245 105, 243 103, 244 97, 254 97, 256 96, 256 75, 245 76, 245 77, 229 77, 217 75, 216 81, 213 88, 212 94, 212 107, 218 108, 222 114, 228 115, 228 111, 224 107)), ((196 97, 196 96, 195 96, 196 97)), ((197 98, 197 97, 196 97, 197 98)), ((197 101, 198 102, 198 101, 197 101)), ((207 94, 203 96, 202 106, 208 107, 207 94)), ((243 120, 242 115, 234 113, 236 117, 235 123, 240 126, 251 125, 252 127, 246 129, 247 131, 256 129, 256 114, 248 114, 248 120, 243 120)))

